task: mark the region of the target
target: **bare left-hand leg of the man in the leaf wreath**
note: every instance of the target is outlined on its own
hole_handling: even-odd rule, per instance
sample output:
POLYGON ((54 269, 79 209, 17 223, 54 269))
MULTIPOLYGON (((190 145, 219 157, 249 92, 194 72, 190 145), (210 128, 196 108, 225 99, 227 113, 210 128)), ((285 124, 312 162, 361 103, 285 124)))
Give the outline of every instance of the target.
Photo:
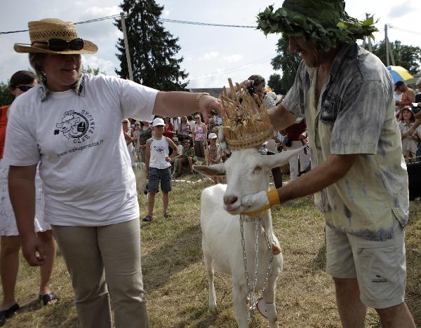
POLYGON ((336 290, 336 303, 342 327, 364 327, 366 306, 361 302, 356 278, 333 278, 336 290))

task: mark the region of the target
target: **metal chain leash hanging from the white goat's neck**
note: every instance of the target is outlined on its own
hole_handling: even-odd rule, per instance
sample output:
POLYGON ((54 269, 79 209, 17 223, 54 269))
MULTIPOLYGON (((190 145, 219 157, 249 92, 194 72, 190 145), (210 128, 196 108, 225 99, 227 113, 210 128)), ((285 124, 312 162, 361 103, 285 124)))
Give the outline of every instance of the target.
POLYGON ((263 292, 265 292, 266 286, 267 286, 267 280, 269 280, 269 273, 270 269, 272 268, 272 262, 274 259, 274 254, 272 252, 272 242, 269 242, 269 238, 267 236, 266 230, 265 230, 265 224, 263 222, 260 222, 263 228, 263 233, 265 235, 265 241, 267 248, 269 250, 269 264, 267 266, 267 270, 265 273, 265 280, 263 280, 262 289, 260 290, 258 297, 255 298, 255 288, 258 285, 258 266, 259 266, 259 260, 258 260, 258 250, 259 250, 259 217, 256 216, 253 219, 252 218, 246 218, 245 216, 240 216, 240 231, 241 231, 241 245, 243 247, 243 264, 244 264, 244 275, 246 276, 246 285, 247 285, 247 296, 250 300, 250 307, 247 310, 247 317, 251 318, 254 315, 254 310, 256 306, 258 305, 259 299, 262 297, 263 292), (244 227, 243 222, 254 222, 255 223, 255 279, 253 282, 253 291, 250 289, 250 282, 248 279, 248 271, 247 271, 247 256, 246 256, 246 240, 244 239, 244 227))

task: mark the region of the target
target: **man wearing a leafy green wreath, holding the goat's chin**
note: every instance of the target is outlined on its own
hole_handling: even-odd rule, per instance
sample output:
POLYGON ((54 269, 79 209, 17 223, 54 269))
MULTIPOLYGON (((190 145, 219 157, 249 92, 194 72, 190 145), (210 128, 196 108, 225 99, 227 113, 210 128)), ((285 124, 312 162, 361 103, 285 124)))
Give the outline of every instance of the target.
POLYGON ((258 15, 258 29, 282 33, 302 62, 293 87, 269 110, 274 130, 305 117, 313 169, 274 191, 243 197, 243 213, 314 193, 326 219, 326 272, 343 327, 363 327, 375 308, 382 327, 415 327, 404 301, 408 176, 394 118, 394 84, 360 48, 373 18, 360 22, 340 0, 286 0, 258 15))

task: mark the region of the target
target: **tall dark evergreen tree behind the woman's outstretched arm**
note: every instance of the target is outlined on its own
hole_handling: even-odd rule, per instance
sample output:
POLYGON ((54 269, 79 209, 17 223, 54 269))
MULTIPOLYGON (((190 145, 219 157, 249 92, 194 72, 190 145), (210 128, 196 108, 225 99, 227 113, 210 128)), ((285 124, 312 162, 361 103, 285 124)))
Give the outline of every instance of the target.
MULTIPOLYGON (((167 32, 159 21, 163 6, 154 0, 123 0, 120 8, 125 14, 134 81, 158 90, 184 90, 187 83, 182 80, 188 74, 180 70, 183 57, 175 57, 180 50, 178 38, 167 32)), ((122 31, 120 19, 114 25, 122 31)), ((116 48, 120 52, 116 56, 121 62, 116 74, 128 78, 123 39, 119 39, 116 48)))

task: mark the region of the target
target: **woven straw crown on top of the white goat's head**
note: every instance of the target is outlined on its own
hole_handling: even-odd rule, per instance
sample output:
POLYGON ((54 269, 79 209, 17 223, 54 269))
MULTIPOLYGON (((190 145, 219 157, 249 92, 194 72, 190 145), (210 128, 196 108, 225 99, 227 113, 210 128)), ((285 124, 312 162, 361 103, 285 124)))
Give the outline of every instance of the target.
POLYGON ((247 88, 236 84, 237 92, 229 78, 231 93, 223 89, 220 96, 222 106, 222 130, 229 149, 246 149, 260 146, 273 135, 272 123, 265 102, 255 100, 247 88))

